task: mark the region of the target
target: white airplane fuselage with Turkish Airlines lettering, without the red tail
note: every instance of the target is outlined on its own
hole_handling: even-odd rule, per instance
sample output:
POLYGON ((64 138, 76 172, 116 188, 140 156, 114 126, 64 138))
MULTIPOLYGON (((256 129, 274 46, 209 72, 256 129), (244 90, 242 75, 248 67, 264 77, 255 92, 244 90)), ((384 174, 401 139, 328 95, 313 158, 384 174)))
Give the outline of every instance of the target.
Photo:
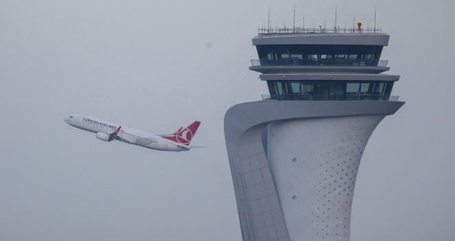
POLYGON ((91 116, 75 114, 63 118, 73 127, 97 134, 100 140, 120 140, 124 143, 139 145, 141 147, 159 151, 188 151, 190 146, 176 143, 161 136, 142 132, 138 129, 126 127, 109 121, 104 121, 91 116), (114 133, 117 132, 117 133, 114 133))

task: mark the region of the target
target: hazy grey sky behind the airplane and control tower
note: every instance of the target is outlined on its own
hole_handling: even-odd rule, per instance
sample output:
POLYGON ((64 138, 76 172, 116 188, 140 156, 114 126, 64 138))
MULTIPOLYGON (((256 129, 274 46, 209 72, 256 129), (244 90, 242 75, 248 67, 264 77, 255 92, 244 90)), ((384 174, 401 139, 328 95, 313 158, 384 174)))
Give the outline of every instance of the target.
POLYGON ((407 103, 365 149, 351 240, 453 240, 454 1, 0 1, 0 240, 241 240, 223 116, 267 94, 267 24, 374 25, 407 103), (183 153, 105 143, 86 114, 155 134, 202 122, 183 153))

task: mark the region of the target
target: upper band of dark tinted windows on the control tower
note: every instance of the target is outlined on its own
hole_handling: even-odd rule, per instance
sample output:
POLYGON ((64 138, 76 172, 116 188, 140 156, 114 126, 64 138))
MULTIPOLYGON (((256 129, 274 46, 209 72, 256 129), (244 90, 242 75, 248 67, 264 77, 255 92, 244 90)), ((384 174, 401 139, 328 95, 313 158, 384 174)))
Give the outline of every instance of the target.
POLYGON ((256 45, 256 49, 261 65, 377 65, 383 46, 256 45))

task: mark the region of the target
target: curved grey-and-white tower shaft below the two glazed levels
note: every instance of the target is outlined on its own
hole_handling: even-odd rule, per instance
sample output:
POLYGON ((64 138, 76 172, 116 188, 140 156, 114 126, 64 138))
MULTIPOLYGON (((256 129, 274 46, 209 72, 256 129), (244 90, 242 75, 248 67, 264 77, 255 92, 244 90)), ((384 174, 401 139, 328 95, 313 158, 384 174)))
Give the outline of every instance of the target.
POLYGON ((349 240, 363 149, 376 125, 403 104, 258 101, 231 107, 225 140, 243 240, 349 240))

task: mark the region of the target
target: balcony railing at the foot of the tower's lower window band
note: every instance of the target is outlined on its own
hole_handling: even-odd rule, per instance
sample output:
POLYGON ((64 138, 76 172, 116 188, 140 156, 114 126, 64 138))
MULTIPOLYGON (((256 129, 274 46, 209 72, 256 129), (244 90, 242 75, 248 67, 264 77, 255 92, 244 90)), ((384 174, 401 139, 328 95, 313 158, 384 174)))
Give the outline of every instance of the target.
POLYGON ((378 94, 263 94, 262 99, 274 101, 398 101, 399 96, 381 96, 378 94))

